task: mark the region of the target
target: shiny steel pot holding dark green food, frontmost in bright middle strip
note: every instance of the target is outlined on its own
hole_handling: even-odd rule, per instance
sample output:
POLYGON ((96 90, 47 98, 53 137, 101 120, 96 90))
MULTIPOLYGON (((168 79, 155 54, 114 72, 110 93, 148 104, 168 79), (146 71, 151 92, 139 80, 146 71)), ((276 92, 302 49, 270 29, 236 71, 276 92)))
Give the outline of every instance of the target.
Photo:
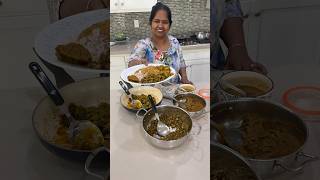
POLYGON ((152 135, 150 135, 147 131, 146 131, 146 126, 149 124, 150 120, 152 120, 154 118, 154 113, 152 111, 152 109, 146 111, 146 110, 139 110, 137 112, 137 117, 138 119, 142 120, 142 130, 144 132, 145 138, 147 139, 147 141, 149 143, 151 143, 152 145, 158 147, 158 148, 162 148, 162 149, 172 149, 172 148, 176 148, 180 145, 182 145, 183 143, 185 143, 187 141, 187 139, 190 136, 190 132, 192 129, 192 120, 190 115, 183 110, 182 108, 176 107, 176 106, 169 106, 169 105, 162 105, 162 106, 158 106, 157 107, 158 113, 159 115, 161 115, 162 113, 178 113, 181 114, 182 118, 184 121, 186 121, 187 123, 189 123, 189 130, 187 132, 186 135, 184 135, 183 137, 176 139, 176 140, 170 140, 170 141, 165 141, 165 140, 160 140, 157 139, 155 137, 153 137, 152 135))

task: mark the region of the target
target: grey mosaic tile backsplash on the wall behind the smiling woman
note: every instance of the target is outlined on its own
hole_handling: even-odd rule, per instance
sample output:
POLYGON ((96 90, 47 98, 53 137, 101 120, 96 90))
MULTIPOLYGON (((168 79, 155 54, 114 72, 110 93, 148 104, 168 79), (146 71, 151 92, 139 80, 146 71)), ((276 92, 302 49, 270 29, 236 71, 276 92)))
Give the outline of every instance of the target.
MULTIPOLYGON (((175 36, 192 35, 197 31, 210 31, 210 10, 207 0, 159 0, 172 11, 170 34, 175 36)), ((151 11, 151 10, 150 10, 151 11)), ((142 39, 150 36, 150 12, 111 14, 111 39, 118 32, 130 39, 142 39), (134 20, 139 20, 139 28, 134 28, 134 20)))

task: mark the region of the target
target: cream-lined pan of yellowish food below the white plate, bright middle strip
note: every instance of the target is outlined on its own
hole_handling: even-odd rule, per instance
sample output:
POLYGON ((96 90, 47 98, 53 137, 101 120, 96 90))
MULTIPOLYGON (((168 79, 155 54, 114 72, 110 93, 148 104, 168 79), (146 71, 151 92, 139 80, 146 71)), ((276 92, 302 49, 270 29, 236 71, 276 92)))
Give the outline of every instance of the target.
MULTIPOLYGON (((142 107, 139 109, 150 109, 151 104, 148 100, 148 95, 151 95, 156 103, 156 105, 161 104, 163 95, 161 91, 157 88, 151 87, 151 86, 138 86, 131 88, 130 94, 132 95, 132 98, 134 100, 139 100, 142 104, 142 107)), ((122 106, 129 111, 136 112, 139 109, 136 107, 133 107, 130 103, 129 97, 126 95, 126 93, 123 93, 120 97, 120 102, 122 106)))

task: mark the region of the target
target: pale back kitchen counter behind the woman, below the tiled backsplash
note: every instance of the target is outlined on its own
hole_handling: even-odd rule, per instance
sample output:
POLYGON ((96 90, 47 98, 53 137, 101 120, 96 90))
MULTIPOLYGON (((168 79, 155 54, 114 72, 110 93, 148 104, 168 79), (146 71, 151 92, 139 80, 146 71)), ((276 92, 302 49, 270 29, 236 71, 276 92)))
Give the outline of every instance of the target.
MULTIPOLYGON (((129 55, 132 51, 133 47, 137 41, 129 41, 128 43, 121 43, 111 46, 110 48, 110 55, 129 55)), ((182 46, 182 51, 192 51, 192 50, 199 50, 199 49, 209 49, 210 44, 196 44, 196 45, 188 45, 182 46)))

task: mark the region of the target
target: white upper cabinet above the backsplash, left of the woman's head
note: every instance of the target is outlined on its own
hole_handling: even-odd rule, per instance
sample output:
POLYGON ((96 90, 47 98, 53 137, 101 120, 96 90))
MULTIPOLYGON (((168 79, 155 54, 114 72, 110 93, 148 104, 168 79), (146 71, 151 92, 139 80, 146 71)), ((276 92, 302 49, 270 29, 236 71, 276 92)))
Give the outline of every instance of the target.
POLYGON ((157 0, 111 0, 111 13, 150 12, 157 0))

